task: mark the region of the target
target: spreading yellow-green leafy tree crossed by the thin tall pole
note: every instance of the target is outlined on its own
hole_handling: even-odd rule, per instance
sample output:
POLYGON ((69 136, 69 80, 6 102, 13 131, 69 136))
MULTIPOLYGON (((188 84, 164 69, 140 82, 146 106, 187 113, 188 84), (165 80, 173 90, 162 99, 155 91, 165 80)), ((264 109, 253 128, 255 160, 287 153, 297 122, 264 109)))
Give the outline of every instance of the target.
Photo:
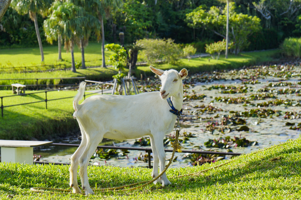
MULTIPOLYGON (((247 36, 253 32, 261 29, 260 19, 256 16, 252 17, 246 14, 237 14, 235 11, 234 3, 229 4, 229 34, 230 40, 234 41, 235 54, 237 55, 240 50, 249 46, 247 36)), ((226 11, 222 11, 212 6, 209 11, 203 9, 202 6, 195 9, 193 12, 187 14, 186 20, 191 27, 201 27, 214 32, 223 38, 226 36, 226 11)))

